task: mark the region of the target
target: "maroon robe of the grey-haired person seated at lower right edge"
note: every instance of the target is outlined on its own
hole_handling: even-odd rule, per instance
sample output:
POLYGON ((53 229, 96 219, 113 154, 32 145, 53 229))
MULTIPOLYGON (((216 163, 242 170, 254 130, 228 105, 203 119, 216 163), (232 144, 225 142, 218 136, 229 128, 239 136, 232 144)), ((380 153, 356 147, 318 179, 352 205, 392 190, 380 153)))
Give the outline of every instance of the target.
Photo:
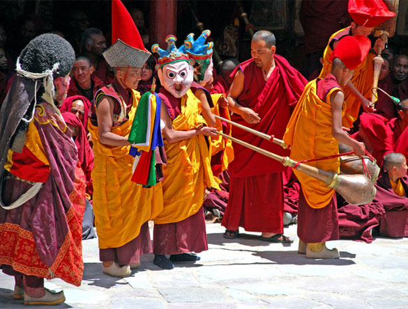
MULTIPOLYGON (((408 177, 401 178, 405 194, 408 193, 408 177)), ((398 196, 391 187, 390 177, 384 172, 375 184, 374 202, 380 202, 385 215, 379 221, 379 235, 387 237, 408 236, 408 196, 398 196)))

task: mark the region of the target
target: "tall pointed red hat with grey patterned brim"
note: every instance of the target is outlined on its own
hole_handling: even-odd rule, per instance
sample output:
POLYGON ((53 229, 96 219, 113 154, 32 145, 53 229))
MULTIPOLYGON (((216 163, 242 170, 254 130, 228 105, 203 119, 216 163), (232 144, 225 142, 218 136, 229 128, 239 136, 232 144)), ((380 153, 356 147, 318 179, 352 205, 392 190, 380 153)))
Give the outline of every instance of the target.
POLYGON ((103 52, 103 56, 114 68, 142 68, 151 55, 144 48, 135 22, 121 0, 112 0, 112 44, 103 52))

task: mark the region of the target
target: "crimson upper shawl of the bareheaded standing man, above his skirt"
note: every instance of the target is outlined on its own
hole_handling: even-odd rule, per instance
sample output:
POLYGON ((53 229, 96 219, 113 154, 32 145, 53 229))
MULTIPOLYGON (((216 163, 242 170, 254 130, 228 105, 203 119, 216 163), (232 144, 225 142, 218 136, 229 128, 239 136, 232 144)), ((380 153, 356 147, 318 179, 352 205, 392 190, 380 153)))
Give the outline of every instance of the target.
MULTIPOLYGON (((258 68, 252 59, 241 63, 232 72, 235 75, 238 70, 242 70, 245 77, 244 90, 238 97, 239 104, 253 109, 261 118, 261 121, 255 125, 248 124, 238 115, 232 116, 232 121, 259 132, 274 135, 276 138, 282 138, 290 118, 291 108, 299 100, 307 80, 282 56, 275 54, 275 65, 266 82, 262 69, 258 68)), ((284 150, 280 145, 270 143, 237 127, 233 127, 232 136, 275 154, 289 155, 289 150, 284 150)), ((285 170, 285 167, 274 159, 236 143, 233 143, 233 146, 235 159, 229 166, 233 176, 246 177, 285 170)))

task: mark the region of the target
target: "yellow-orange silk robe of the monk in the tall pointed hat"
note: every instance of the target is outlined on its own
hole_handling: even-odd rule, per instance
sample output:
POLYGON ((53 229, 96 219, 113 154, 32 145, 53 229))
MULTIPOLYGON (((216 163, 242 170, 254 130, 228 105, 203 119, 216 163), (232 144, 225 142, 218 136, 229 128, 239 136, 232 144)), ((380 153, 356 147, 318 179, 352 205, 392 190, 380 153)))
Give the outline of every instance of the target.
MULTIPOLYGON (((112 133, 128 136, 135 117, 140 94, 133 90, 133 106, 128 120, 112 127, 112 133)), ((122 113, 126 108, 122 109, 122 113)), ((93 212, 99 248, 118 248, 135 239, 140 227, 163 209, 161 182, 143 188, 132 182, 133 157, 130 146, 108 146, 100 143, 98 127, 88 122, 95 154, 93 179, 93 212)))

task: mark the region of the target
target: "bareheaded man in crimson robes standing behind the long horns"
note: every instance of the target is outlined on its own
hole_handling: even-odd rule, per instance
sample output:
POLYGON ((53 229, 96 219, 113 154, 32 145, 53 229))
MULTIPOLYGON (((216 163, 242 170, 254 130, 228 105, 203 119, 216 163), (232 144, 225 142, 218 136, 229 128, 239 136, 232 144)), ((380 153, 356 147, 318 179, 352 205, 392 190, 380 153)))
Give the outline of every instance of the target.
MULTIPOLYGON (((252 38, 251 56, 232 72, 227 95, 232 120, 257 131, 282 138, 306 79, 282 56, 275 54, 275 35, 258 31, 252 38)), ((286 156, 287 150, 242 129, 232 136, 286 156)), ((225 238, 239 236, 239 227, 262 232, 264 241, 292 243, 283 235, 283 190, 280 162, 233 143, 234 161, 229 164, 231 182, 227 209, 222 220, 225 238)))

